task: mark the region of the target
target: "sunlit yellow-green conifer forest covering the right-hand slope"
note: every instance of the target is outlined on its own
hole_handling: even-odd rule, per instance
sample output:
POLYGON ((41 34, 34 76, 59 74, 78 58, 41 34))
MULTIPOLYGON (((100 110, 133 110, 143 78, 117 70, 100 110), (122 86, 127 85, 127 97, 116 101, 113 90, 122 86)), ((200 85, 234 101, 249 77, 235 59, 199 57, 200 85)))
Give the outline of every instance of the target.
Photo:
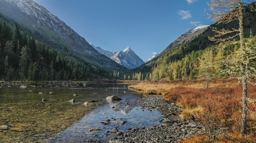
MULTIPOLYGON (((256 12, 249 11, 249 7, 255 6, 255 3, 250 4, 245 7, 247 13, 244 15, 244 37, 249 38, 250 33, 252 36, 255 35, 256 31, 256 12)), ((214 57, 213 63, 220 62, 221 57, 230 55, 238 50, 238 45, 228 44, 225 48, 220 50, 219 47, 227 43, 215 43, 208 39, 208 37, 213 36, 214 32, 211 27, 216 27, 217 29, 232 29, 238 28, 238 21, 230 22, 229 24, 212 24, 208 27, 202 34, 193 38, 189 42, 184 44, 166 48, 166 52, 159 54, 158 57, 152 61, 139 66, 138 68, 127 70, 127 72, 122 75, 124 80, 147 80, 147 81, 172 81, 172 80, 191 80, 199 79, 200 77, 200 67, 199 59, 205 51, 209 48, 211 49, 214 57)), ((237 41, 239 37, 235 37, 237 41)), ((248 39, 247 39, 248 40, 248 39)), ((224 67, 222 67, 224 68, 224 67)), ((215 70, 213 77, 223 77, 220 70, 215 70)))

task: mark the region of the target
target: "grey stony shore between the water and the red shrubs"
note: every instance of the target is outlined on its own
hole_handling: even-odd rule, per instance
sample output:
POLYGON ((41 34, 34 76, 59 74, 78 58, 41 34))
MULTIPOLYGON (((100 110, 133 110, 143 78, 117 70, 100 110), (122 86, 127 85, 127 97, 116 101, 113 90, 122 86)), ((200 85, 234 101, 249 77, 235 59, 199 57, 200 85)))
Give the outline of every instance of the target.
POLYGON ((111 139, 109 143, 177 143, 193 134, 204 132, 202 124, 196 121, 182 121, 182 109, 173 103, 163 103, 163 96, 148 95, 135 99, 135 105, 144 110, 159 110, 165 116, 161 125, 149 128, 133 128, 129 132, 111 139))

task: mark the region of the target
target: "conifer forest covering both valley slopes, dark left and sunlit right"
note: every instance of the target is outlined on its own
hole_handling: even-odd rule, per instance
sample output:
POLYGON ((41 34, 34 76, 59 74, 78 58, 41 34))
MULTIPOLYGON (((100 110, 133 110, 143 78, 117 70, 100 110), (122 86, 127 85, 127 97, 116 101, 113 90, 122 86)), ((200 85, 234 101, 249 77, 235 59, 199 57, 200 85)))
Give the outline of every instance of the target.
MULTIPOLYGON (((255 6, 254 6, 255 7, 255 6)), ((245 9, 246 11, 248 9, 245 9)), ((255 35, 256 12, 248 11, 244 18, 244 37, 255 35)), ((45 35, 31 31, 25 26, 1 16, 0 19, 0 80, 3 81, 60 81, 60 80, 93 80, 112 78, 121 80, 146 80, 146 81, 172 81, 192 80, 202 78, 200 58, 211 49, 214 57, 212 63, 221 66, 220 59, 227 57, 238 50, 238 44, 216 43, 208 37, 213 36, 212 27, 217 29, 231 29, 238 27, 238 21, 229 24, 212 24, 200 35, 193 37, 189 42, 171 47, 167 46, 158 57, 137 68, 111 69, 97 63, 87 61, 74 55, 58 41, 60 50, 55 51, 41 41, 45 35), (22 30, 20 30, 22 27, 22 30), (226 46, 227 45, 227 46, 226 46), (225 47, 220 50, 220 47, 225 47), (96 66, 94 66, 96 65, 96 66), (100 67, 100 68, 96 68, 100 67), (118 69, 118 70, 117 70, 118 69), (125 71, 126 70, 126 71, 125 71)), ((233 42, 238 40, 235 37, 233 42)), ((247 39, 248 40, 248 39, 247 39)), ((48 44, 49 45, 49 44, 48 44)), ((55 43, 56 46, 56 43, 55 43)), ((218 67, 218 68, 225 68, 218 67)), ((211 77, 224 77, 220 70, 213 70, 211 77)))

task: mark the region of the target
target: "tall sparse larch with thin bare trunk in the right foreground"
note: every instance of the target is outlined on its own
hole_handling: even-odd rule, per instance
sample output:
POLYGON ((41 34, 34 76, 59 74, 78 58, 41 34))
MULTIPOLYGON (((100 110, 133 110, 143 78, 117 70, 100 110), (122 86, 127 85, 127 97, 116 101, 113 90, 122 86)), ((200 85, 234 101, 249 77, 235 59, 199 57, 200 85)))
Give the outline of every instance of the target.
MULTIPOLYGON (((218 24, 227 24, 234 20, 238 20, 238 28, 232 27, 232 29, 214 29, 214 32, 217 34, 213 37, 209 37, 210 40, 215 42, 223 42, 231 40, 236 36, 239 36, 240 48, 236 56, 233 56, 234 59, 231 61, 230 70, 227 70, 226 73, 236 77, 243 87, 242 99, 243 99, 243 112, 242 112, 242 124, 240 135, 243 136, 246 134, 246 124, 247 124, 247 83, 249 79, 255 77, 256 72, 254 67, 250 67, 254 57, 254 47, 248 46, 244 42, 244 32, 243 32, 243 18, 245 15, 246 2, 253 2, 254 0, 211 0, 211 3, 208 3, 208 6, 211 8, 213 13, 208 13, 209 18, 213 18, 214 21, 217 21, 218 24), (243 3, 244 2, 244 3, 243 3), (252 53, 252 55, 250 55, 252 53), (233 64, 234 61, 236 64, 233 64), (236 70, 232 71, 232 69, 236 70), (237 76, 237 70, 239 70, 239 75, 237 76)), ((250 7, 252 11, 255 11, 256 8, 250 7)), ((250 45, 250 44, 249 44, 250 45)))

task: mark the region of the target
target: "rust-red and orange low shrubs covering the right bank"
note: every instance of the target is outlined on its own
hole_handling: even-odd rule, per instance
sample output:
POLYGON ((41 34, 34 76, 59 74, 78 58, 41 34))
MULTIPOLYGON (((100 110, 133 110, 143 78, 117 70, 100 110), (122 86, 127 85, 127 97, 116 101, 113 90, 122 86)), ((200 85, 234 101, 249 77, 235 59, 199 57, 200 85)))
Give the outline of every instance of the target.
MULTIPOLYGON (((218 81, 224 82, 224 81, 218 81)), ((204 112, 199 114, 196 120, 202 122, 206 128, 208 141, 217 142, 252 142, 256 139, 256 105, 248 103, 248 133, 250 138, 228 139, 228 136, 222 136, 222 133, 239 134, 241 124, 241 97, 242 88, 235 80, 230 80, 227 86, 216 86, 209 89, 177 87, 168 92, 164 99, 170 99, 171 102, 183 105, 186 110, 202 106, 204 112), (230 84, 231 83, 231 84, 230 84), (250 130, 250 131, 249 131, 250 130), (225 139, 224 139, 225 138, 225 139)), ((248 86, 249 98, 256 99, 256 88, 248 86)), ((185 118, 186 119, 186 118, 185 118)), ((195 141, 193 138, 190 141, 195 141)), ((184 141, 184 143, 190 143, 184 141)))

